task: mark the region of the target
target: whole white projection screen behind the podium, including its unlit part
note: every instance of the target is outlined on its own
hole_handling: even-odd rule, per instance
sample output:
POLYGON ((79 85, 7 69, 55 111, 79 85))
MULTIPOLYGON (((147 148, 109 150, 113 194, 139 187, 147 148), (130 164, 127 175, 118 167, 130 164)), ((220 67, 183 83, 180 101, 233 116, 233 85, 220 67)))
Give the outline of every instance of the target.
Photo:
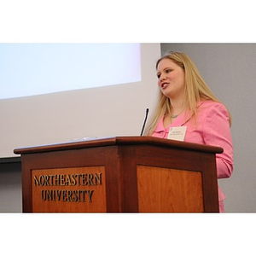
POLYGON ((0 157, 139 135, 159 57, 160 44, 0 44, 0 157))

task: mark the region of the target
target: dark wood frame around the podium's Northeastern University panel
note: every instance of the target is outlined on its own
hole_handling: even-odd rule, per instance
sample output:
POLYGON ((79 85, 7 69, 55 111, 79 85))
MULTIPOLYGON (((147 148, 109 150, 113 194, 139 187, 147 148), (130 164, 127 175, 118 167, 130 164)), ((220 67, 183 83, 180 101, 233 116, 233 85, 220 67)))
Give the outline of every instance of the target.
POLYGON ((117 148, 82 148, 80 150, 56 151, 22 155, 23 209, 32 212, 32 170, 104 166, 106 172, 107 212, 120 212, 119 168, 116 162, 117 148))

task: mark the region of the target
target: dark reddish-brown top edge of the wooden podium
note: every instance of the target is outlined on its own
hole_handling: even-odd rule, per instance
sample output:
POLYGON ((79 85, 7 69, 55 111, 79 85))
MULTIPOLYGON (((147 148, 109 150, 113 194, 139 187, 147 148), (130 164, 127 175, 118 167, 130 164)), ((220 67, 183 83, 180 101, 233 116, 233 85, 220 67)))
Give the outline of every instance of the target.
POLYGON ((96 148, 96 147, 107 147, 107 146, 120 146, 120 145, 151 145, 165 148, 183 148, 193 151, 201 151, 212 154, 223 153, 223 148, 209 146, 197 143, 179 142, 170 139, 163 139, 158 137, 106 137, 89 139, 80 142, 69 142, 69 143, 55 143, 49 145, 38 145, 26 148, 15 148, 15 154, 35 154, 35 153, 46 153, 52 151, 72 150, 80 148, 96 148))

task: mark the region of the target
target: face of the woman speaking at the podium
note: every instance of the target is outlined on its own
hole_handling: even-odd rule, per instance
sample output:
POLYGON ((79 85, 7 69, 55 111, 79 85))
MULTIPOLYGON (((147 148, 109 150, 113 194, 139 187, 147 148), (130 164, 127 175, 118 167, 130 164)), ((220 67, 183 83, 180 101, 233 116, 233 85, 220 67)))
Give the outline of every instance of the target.
POLYGON ((170 59, 163 59, 157 67, 158 85, 162 93, 174 100, 183 97, 185 90, 185 73, 170 59))

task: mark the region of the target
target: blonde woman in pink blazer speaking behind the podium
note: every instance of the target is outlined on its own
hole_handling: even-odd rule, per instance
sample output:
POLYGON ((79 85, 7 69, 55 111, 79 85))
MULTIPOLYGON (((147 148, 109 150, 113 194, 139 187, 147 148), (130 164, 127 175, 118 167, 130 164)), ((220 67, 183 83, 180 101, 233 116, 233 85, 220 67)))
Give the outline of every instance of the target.
MULTIPOLYGON (((183 141, 224 148, 224 153, 216 155, 217 176, 230 177, 233 144, 227 108, 212 94, 187 55, 171 52, 157 61, 156 69, 159 101, 148 123, 147 134, 170 138, 171 127, 186 127, 183 141)), ((219 212, 224 212, 224 198, 218 189, 219 212)))

